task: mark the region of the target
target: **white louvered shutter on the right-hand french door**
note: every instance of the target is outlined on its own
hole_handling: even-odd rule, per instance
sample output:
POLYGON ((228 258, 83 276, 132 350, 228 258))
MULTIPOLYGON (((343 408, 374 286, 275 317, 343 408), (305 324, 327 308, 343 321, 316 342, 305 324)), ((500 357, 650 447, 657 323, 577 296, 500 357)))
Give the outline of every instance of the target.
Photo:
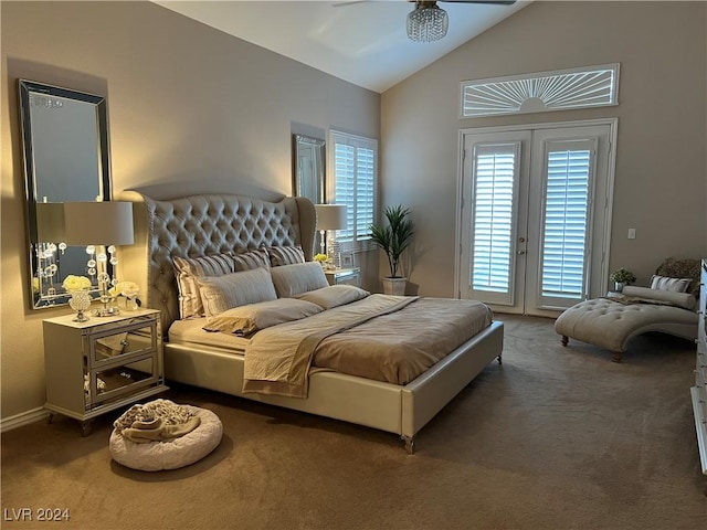
POLYGON ((547 305, 567 305, 587 295, 594 152, 593 139, 546 146, 540 288, 547 305))

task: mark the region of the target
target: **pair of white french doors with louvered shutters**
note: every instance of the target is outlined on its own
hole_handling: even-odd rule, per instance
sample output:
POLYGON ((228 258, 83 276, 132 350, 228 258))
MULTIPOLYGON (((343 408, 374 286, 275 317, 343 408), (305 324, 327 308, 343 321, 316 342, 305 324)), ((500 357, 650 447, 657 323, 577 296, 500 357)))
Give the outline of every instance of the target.
POLYGON ((461 298, 555 316, 605 290, 615 128, 462 131, 461 298))

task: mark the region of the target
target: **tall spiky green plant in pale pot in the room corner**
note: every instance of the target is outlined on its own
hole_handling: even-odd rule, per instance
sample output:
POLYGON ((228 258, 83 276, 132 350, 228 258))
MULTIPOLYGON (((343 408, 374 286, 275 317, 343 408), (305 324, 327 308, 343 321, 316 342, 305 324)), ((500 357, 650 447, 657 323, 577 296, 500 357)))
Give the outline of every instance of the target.
POLYGON ((383 211, 387 226, 370 225, 371 240, 388 256, 390 276, 383 278, 383 293, 388 295, 404 295, 408 278, 399 274, 400 257, 412 242, 414 226, 410 220, 410 209, 401 204, 397 206, 386 206, 383 211))

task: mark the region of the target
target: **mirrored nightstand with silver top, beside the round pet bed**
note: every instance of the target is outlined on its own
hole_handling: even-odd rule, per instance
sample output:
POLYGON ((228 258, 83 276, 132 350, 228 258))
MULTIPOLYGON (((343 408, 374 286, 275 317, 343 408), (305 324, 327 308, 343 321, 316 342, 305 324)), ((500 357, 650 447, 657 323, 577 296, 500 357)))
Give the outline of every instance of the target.
POLYGON ((73 318, 43 321, 50 423, 56 412, 78 420, 86 435, 96 416, 168 390, 160 311, 73 318))

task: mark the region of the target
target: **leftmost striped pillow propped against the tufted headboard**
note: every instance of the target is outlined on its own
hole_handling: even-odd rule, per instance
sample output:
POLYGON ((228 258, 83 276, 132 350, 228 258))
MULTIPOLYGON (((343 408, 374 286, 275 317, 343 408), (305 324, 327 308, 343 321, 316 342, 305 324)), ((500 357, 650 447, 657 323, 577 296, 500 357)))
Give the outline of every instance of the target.
POLYGON ((172 258, 175 276, 179 287, 179 317, 203 317, 203 303, 199 295, 199 286, 196 278, 204 276, 221 276, 233 273, 233 258, 228 254, 213 254, 211 256, 178 257, 172 258))

